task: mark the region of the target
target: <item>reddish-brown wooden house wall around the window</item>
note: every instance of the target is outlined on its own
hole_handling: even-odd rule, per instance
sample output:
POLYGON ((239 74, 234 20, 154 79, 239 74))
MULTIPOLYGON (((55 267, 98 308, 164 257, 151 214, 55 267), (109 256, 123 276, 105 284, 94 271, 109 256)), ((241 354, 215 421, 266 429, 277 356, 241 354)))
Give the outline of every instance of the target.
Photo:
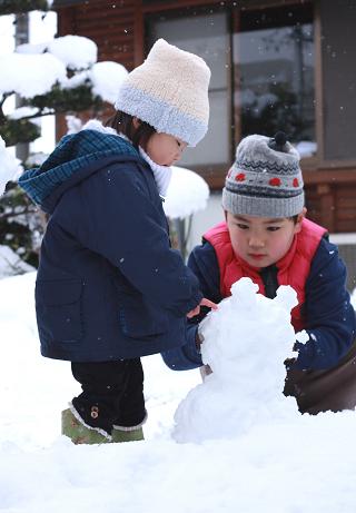
MULTIPOLYGON (((254 0, 255 2, 255 0, 254 0)), ((142 0, 112 0, 89 2, 58 2, 59 34, 75 33, 92 39, 99 49, 98 60, 113 60, 128 70, 142 62, 145 56, 144 17, 147 11, 171 9, 177 1, 147 2, 142 0)), ((204 0, 182 0, 181 4, 214 3, 204 0)), ((248 3, 248 2, 244 2, 248 3)), ((256 0, 255 3, 260 3, 256 0)), ((267 0, 266 0, 266 3, 267 0)), ((316 19, 317 33, 322 34, 320 19, 316 19)), ((318 108, 316 124, 318 127, 318 147, 323 147, 323 82, 322 51, 317 50, 316 87, 318 108), (319 92, 318 92, 319 91, 319 92)), ((324 91, 325 93, 325 91, 324 91)), ((108 112, 105 112, 108 114, 108 112)), ((58 121, 59 134, 65 131, 63 120, 58 121)), ((356 162, 356 155, 355 155, 356 162)), ((345 167, 344 162, 333 166, 324 162, 305 162, 303 165, 308 215, 312 219, 326 226, 332 233, 356 231, 356 165, 345 167), (320 168, 320 165, 323 168, 320 168)), ((210 187, 224 186, 221 170, 210 181, 210 187)))

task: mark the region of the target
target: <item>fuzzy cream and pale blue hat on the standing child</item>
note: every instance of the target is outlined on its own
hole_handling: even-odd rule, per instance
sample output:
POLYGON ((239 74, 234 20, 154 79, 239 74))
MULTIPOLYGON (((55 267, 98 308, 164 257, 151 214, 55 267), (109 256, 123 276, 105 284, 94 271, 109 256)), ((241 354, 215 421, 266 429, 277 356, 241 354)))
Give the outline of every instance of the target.
POLYGON ((196 146, 208 129, 209 80, 200 57, 158 39, 123 80, 115 108, 196 146))

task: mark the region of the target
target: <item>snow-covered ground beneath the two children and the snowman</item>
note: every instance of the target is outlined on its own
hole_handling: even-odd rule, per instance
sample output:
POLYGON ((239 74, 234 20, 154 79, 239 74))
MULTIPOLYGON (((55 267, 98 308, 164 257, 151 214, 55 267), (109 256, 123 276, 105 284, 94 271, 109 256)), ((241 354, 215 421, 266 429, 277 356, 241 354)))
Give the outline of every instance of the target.
POLYGON ((200 376, 171 372, 159 356, 144 358, 146 441, 72 445, 60 411, 79 385, 69 364, 39 355, 33 284, 33 273, 0 280, 1 512, 355 512, 355 413, 290 415, 229 440, 177 443, 174 413, 200 376))

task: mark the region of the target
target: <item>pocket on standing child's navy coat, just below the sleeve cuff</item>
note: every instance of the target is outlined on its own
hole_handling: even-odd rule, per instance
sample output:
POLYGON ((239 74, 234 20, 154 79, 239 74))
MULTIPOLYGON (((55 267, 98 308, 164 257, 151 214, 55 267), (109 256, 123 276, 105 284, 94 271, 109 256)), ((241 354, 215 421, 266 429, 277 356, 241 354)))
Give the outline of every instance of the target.
POLYGON ((140 339, 161 335, 168 328, 166 313, 135 293, 119 295, 119 323, 126 336, 140 339))

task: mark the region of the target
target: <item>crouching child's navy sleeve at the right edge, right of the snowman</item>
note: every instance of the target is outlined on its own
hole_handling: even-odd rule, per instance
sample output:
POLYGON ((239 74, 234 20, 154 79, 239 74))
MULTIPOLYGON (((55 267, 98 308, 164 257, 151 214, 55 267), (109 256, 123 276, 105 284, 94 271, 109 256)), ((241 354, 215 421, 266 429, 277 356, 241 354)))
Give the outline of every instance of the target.
POLYGON ((297 368, 333 367, 353 344, 355 310, 345 284, 346 267, 337 247, 322 239, 306 283, 305 316, 309 341, 296 344, 297 368))

